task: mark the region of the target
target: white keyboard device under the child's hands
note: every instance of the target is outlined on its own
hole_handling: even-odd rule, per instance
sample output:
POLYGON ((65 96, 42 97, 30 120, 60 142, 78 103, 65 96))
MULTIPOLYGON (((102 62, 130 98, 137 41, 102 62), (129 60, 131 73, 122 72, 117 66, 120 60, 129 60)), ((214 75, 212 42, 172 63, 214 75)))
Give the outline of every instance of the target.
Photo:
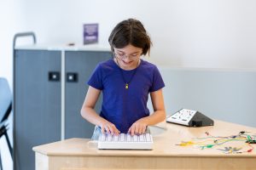
POLYGON ((98 149, 108 150, 152 150, 153 138, 150 133, 133 135, 130 133, 102 133, 98 140, 98 149))

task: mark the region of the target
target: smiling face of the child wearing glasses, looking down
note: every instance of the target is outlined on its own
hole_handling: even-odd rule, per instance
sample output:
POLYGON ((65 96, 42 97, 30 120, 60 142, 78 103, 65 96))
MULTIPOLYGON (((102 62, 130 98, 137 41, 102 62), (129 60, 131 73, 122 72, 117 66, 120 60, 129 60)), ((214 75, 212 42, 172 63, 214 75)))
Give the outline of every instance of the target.
POLYGON ((134 47, 131 44, 125 46, 125 48, 113 48, 113 50, 119 67, 124 70, 137 68, 139 59, 143 53, 142 48, 134 47))

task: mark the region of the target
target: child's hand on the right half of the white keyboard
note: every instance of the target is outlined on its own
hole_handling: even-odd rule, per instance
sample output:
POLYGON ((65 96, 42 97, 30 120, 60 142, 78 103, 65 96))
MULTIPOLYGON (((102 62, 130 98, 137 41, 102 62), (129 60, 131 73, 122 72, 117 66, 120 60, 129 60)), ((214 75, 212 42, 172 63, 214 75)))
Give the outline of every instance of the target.
POLYGON ((143 134, 146 132, 147 126, 148 123, 143 118, 141 118, 131 125, 128 133, 131 133, 131 136, 133 136, 134 134, 143 134))

